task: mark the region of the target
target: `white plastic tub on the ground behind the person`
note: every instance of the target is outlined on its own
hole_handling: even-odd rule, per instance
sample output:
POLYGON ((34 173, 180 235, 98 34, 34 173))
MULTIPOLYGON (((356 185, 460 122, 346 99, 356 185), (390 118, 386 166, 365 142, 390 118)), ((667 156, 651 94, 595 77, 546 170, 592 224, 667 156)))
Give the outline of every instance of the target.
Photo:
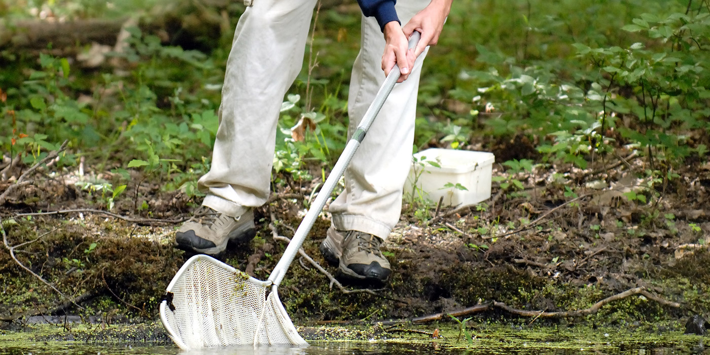
POLYGON ((487 152, 441 148, 420 151, 412 161, 404 187, 405 197, 413 196, 415 200, 423 197, 436 204, 443 196, 442 206, 484 201, 491 197, 491 170, 495 160, 493 153, 487 152))

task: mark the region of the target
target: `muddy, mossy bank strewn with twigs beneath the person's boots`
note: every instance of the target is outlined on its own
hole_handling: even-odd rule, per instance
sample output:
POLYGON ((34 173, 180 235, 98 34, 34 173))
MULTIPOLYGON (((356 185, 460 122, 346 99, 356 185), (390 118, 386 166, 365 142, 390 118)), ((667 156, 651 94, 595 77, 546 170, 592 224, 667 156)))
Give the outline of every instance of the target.
MULTIPOLYGON (((393 266, 390 283, 376 288, 375 295, 346 293, 296 258, 280 298, 295 322, 311 326, 491 305, 461 319, 681 329, 690 315, 706 316, 710 310, 710 165, 690 162, 668 180, 662 178, 667 175, 662 166, 649 177, 646 158, 629 151, 617 156, 588 170, 552 165, 504 175, 495 165, 493 175, 518 180, 524 188, 511 184, 502 190, 494 184, 491 199, 476 206, 437 208, 408 201, 383 247, 393 266), (645 203, 630 200, 629 192, 643 195, 645 203), (584 310, 633 288, 655 298, 634 294, 579 317, 538 318, 493 307, 502 302, 518 311, 584 310)), ((15 176, 21 168, 27 167, 17 167, 15 176)), ((320 176, 320 167, 313 169, 320 176)), ((0 206, 6 233, 0 249, 0 327, 12 329, 48 315, 105 324, 157 320, 165 287, 190 256, 173 247, 174 231, 199 200, 161 191, 157 182, 136 175, 111 209, 129 219, 124 220, 90 212, 106 211, 107 196, 76 185, 118 177, 38 171, 42 175, 0 206), (23 215, 65 209, 84 210, 23 215)), ((256 238, 219 256, 256 278, 266 279, 285 249, 272 238, 269 224, 278 234, 292 236, 305 212, 304 199, 320 186, 320 179, 283 180, 288 183, 276 187, 270 202, 256 212, 256 238)), ((0 191, 11 183, 0 181, 0 191)), ((326 213, 303 247, 337 275, 318 251, 328 226, 326 213)), ((364 287, 344 283, 346 290, 364 287)))

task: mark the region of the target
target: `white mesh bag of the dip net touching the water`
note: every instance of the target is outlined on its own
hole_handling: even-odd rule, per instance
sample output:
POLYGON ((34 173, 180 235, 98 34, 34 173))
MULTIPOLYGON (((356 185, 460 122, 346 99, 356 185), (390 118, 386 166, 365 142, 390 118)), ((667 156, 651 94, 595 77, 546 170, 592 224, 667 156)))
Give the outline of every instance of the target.
POLYGON ((307 344, 270 281, 251 278, 212 257, 190 258, 168 285, 166 296, 160 320, 181 349, 307 344))

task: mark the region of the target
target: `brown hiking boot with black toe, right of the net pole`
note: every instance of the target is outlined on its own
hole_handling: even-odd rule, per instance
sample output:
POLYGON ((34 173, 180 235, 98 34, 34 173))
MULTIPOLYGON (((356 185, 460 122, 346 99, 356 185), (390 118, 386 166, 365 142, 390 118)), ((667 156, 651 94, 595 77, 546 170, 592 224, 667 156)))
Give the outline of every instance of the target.
POLYGON ((362 231, 328 229, 320 252, 329 263, 338 263, 344 275, 358 280, 384 282, 391 271, 390 263, 380 251, 382 239, 362 231))

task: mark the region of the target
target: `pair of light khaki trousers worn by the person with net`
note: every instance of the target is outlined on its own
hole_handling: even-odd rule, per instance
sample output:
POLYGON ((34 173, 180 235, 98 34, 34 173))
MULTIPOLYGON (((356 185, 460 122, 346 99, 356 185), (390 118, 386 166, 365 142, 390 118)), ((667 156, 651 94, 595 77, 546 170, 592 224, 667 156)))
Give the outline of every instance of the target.
MULTIPOLYGON (((200 178, 203 204, 231 216, 258 207, 270 192, 281 102, 301 70, 315 0, 254 0, 239 18, 227 60, 212 168, 200 178)), ((400 0, 404 25, 429 0, 400 0)), ((333 44, 337 45, 337 44, 333 44)), ((385 79, 385 41, 375 18, 362 18, 361 50, 350 82, 349 135, 385 79)), ((345 190, 330 204, 332 224, 382 239, 398 222, 412 160, 417 89, 425 50, 408 80, 396 84, 345 173, 345 190)))

